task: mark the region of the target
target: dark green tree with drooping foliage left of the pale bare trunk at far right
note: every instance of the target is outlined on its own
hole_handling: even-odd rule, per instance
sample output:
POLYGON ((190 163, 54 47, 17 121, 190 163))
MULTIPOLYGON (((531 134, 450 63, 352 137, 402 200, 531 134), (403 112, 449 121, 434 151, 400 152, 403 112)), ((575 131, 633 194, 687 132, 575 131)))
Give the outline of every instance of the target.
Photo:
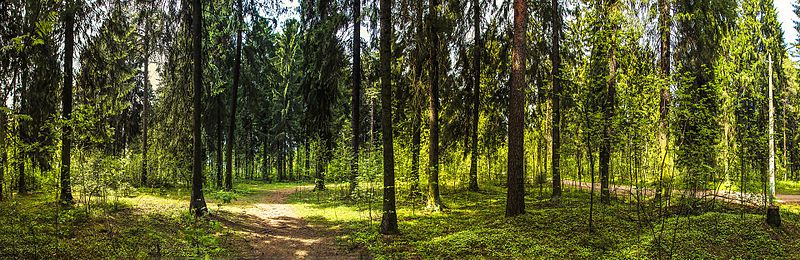
POLYGON ((714 61, 719 41, 734 16, 735 1, 677 0, 675 62, 677 91, 675 105, 676 166, 682 169, 685 188, 695 196, 712 179, 717 167, 720 139, 720 91, 714 81, 714 61))

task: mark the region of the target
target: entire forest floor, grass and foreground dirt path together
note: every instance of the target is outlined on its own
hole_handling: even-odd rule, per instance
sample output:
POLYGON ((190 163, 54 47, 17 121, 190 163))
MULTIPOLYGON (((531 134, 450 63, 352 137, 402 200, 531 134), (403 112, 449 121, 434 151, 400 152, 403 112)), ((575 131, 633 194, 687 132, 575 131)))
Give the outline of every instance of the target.
MULTIPOLYGON (((313 192, 301 183, 241 181, 234 191, 208 189, 210 217, 187 210, 180 188, 138 189, 60 208, 52 193, 0 202, 0 258, 796 258, 800 205, 781 207, 783 226, 757 208, 709 204, 691 214, 680 202, 665 217, 652 202, 617 196, 591 207, 589 193, 566 185, 559 203, 526 196, 526 214, 505 218, 505 189, 447 189, 441 212, 424 209, 398 183, 400 234, 378 233, 379 183, 363 183, 353 200, 344 185, 313 192), (88 205, 88 206, 87 206, 88 205)), ((546 193, 546 192, 545 192, 546 193)), ((543 196, 544 195, 544 196, 543 196)))

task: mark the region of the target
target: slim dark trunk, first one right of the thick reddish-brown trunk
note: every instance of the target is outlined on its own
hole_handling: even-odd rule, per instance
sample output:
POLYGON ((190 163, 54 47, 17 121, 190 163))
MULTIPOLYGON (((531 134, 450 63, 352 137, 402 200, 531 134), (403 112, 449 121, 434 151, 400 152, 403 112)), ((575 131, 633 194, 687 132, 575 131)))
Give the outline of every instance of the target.
POLYGON ((553 138, 553 154, 551 163, 553 167, 553 201, 561 199, 561 11, 558 0, 551 0, 552 4, 552 25, 553 25, 553 46, 550 50, 550 60, 553 63, 552 82, 553 82, 553 125, 551 135, 553 138))

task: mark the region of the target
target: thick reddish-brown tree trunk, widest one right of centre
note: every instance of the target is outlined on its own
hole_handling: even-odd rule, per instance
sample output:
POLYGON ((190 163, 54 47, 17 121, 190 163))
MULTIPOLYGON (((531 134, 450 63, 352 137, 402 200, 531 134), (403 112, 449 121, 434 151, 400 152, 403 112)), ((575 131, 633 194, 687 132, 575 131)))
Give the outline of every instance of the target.
POLYGON ((511 49, 511 94, 508 104, 508 190, 506 217, 525 213, 525 32, 528 18, 524 0, 514 0, 514 39, 511 49))

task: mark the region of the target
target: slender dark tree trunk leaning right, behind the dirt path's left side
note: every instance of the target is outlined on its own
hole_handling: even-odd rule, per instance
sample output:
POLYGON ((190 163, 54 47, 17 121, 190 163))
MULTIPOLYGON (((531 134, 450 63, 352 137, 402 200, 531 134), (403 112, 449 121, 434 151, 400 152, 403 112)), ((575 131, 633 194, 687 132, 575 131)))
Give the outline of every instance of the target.
POLYGON ((242 65, 242 0, 237 0, 238 10, 236 15, 236 56, 234 57, 233 62, 233 86, 231 89, 231 116, 230 116, 230 127, 228 129, 228 142, 226 146, 227 150, 227 161, 225 162, 225 190, 233 189, 233 176, 231 171, 233 170, 233 145, 235 144, 235 136, 234 132, 236 130, 236 100, 237 100, 237 92, 239 89, 239 76, 240 70, 242 65))

